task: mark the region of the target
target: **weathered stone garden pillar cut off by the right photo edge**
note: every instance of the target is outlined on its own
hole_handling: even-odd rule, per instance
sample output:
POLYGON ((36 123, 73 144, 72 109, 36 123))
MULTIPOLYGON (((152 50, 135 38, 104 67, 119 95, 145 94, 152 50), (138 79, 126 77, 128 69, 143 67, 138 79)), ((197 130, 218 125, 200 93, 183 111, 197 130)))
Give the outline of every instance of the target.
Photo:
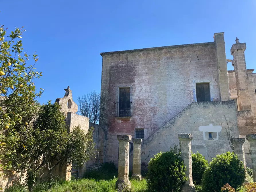
POLYGON ((253 165, 253 182, 256 182, 256 134, 246 136, 250 143, 251 160, 253 165))

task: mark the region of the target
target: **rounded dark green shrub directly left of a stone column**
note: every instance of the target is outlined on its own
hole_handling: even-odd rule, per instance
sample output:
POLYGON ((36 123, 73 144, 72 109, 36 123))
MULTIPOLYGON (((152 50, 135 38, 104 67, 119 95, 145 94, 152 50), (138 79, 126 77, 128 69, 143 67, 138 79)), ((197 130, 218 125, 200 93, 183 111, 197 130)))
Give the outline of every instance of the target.
POLYGON ((154 191, 179 191, 187 180, 185 170, 176 147, 169 152, 160 152, 148 163, 148 188, 154 191))

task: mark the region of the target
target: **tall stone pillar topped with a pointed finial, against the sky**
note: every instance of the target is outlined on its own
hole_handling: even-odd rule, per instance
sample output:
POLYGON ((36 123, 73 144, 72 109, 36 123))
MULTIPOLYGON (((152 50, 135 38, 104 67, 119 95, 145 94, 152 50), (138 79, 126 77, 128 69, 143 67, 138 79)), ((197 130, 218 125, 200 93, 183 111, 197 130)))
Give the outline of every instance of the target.
POLYGON ((233 55, 232 65, 234 66, 237 83, 237 104, 240 111, 251 110, 251 103, 249 98, 249 91, 247 85, 247 69, 245 63, 245 43, 236 43, 231 47, 231 55, 233 55))

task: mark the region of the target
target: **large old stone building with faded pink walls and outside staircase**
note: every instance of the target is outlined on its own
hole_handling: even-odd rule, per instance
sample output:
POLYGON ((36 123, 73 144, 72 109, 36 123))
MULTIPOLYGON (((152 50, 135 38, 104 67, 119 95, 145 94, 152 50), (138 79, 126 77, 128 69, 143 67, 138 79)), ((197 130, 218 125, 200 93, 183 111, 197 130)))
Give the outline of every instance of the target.
MULTIPOLYGON (((245 49, 238 39, 232 45, 232 71, 224 33, 214 42, 101 53, 101 91, 110 98, 101 161, 117 164, 120 134, 142 138, 148 162, 179 145, 178 133, 192 133, 192 151, 208 160, 232 150, 230 138, 255 133, 256 75, 246 69, 245 49)), ((132 150, 131 142, 130 162, 132 150)))

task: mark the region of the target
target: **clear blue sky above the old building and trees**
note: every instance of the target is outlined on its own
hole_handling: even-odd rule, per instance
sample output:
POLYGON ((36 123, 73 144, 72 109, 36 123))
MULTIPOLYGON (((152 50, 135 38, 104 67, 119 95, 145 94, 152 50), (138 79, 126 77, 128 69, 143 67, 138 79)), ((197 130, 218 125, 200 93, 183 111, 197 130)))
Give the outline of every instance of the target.
POLYGON ((100 52, 212 42, 217 32, 225 32, 228 59, 238 37, 247 68, 256 68, 255 0, 2 1, 0 11, 5 27, 25 27, 25 50, 37 51, 41 103, 63 97, 68 85, 75 101, 100 91, 100 52))

